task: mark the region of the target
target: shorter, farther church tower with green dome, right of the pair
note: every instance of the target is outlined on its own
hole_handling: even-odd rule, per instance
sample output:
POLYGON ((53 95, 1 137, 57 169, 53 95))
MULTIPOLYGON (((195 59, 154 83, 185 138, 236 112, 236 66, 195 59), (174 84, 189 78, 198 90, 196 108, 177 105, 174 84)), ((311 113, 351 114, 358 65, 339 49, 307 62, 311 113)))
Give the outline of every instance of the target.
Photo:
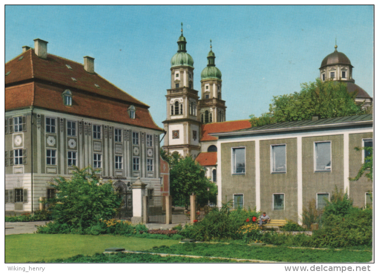
POLYGON ((225 121, 225 101, 221 99, 221 71, 215 65, 215 53, 208 53, 208 65, 201 71, 199 118, 203 124, 225 121))

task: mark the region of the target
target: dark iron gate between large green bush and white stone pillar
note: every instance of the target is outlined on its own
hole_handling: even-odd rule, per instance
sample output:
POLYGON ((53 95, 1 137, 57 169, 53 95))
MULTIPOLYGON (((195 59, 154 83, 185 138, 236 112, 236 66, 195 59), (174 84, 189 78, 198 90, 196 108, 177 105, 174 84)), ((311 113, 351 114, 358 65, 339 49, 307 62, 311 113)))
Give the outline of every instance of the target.
POLYGON ((131 221, 133 217, 133 195, 132 195, 132 185, 130 182, 124 183, 122 181, 117 181, 113 184, 115 190, 121 199, 121 205, 118 209, 118 219, 131 221))

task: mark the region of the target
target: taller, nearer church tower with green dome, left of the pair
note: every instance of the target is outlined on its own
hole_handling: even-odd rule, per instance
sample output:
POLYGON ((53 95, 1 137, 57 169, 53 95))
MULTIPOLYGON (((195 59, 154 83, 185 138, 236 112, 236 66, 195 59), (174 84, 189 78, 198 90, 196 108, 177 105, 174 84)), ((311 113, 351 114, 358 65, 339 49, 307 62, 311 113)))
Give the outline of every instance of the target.
POLYGON ((186 38, 178 40, 178 52, 171 58, 171 89, 167 89, 167 117, 163 121, 164 150, 178 152, 195 158, 200 152, 200 121, 198 113, 198 91, 193 89, 193 59, 186 50, 186 38))

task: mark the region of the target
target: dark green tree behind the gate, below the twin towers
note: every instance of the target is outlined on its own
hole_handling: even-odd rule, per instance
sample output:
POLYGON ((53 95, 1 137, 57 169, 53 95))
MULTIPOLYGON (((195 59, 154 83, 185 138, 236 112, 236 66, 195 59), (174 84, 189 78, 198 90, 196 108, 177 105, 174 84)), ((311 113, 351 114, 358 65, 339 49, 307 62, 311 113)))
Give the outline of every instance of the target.
POLYGON ((161 149, 162 158, 170 165, 170 195, 176 205, 188 205, 189 196, 195 194, 198 200, 211 199, 217 193, 216 185, 205 175, 205 168, 192 156, 181 156, 179 153, 167 154, 161 149), (209 192, 207 187, 210 188, 209 192))

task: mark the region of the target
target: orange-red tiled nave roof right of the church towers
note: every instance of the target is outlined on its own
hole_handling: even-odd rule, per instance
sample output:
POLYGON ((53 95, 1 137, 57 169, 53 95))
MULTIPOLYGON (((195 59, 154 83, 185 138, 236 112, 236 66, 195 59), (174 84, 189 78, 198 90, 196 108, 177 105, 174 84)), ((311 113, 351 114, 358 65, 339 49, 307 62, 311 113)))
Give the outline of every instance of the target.
POLYGON ((250 128, 251 124, 249 120, 234 120, 215 122, 201 125, 201 139, 200 141, 212 141, 217 140, 217 137, 209 135, 210 133, 231 132, 240 129, 250 128))

